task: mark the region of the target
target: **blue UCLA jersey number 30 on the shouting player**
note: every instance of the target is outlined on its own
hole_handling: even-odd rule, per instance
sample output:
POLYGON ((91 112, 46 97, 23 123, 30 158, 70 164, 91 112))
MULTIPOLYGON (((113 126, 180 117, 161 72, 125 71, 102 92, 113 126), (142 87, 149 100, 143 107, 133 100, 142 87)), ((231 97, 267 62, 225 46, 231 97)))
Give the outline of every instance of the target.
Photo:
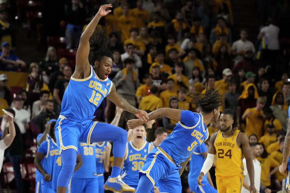
POLYGON ((127 175, 123 178, 123 182, 127 185, 138 185, 139 171, 144 165, 145 159, 150 152, 151 144, 145 141, 143 147, 137 149, 133 146, 132 141, 127 142, 126 155, 123 167, 123 173, 127 175))

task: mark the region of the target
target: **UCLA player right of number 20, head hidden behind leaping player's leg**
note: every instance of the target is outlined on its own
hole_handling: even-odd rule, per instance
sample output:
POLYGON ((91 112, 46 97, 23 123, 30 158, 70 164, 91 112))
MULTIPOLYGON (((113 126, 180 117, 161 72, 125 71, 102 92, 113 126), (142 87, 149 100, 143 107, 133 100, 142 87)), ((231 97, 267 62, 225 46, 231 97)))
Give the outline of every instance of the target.
POLYGON ((104 173, 109 172, 110 154, 112 145, 108 141, 98 142, 96 144, 96 166, 99 182, 99 193, 104 193, 104 173))

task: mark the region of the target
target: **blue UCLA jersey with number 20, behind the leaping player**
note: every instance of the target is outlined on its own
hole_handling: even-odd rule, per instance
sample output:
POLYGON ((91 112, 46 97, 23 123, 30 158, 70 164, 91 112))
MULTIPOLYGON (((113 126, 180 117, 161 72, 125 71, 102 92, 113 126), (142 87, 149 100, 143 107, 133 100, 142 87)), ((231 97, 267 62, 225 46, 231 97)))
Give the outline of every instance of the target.
POLYGON ((82 156, 82 166, 73 172, 73 178, 96 178, 95 143, 79 143, 79 153, 82 156))

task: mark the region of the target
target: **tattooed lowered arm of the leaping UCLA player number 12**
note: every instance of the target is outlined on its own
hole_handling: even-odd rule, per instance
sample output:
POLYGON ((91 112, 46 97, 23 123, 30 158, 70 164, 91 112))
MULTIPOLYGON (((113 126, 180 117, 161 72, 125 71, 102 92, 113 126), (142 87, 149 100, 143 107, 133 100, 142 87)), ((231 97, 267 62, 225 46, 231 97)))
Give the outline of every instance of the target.
POLYGON ((134 113, 139 119, 142 119, 146 122, 148 119, 148 113, 135 108, 134 106, 130 105, 123 97, 121 97, 116 90, 116 86, 112 83, 111 92, 108 94, 107 98, 112 101, 116 106, 119 106, 121 109, 128 111, 130 113, 134 113))

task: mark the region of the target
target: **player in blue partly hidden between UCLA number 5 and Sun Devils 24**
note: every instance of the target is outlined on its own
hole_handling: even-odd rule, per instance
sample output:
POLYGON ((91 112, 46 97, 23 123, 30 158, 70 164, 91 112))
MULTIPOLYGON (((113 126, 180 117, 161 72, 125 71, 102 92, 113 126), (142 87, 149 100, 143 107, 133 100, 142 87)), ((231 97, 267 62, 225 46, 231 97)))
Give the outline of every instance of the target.
POLYGON ((218 193, 218 191, 213 187, 209 172, 207 172, 202 179, 203 186, 198 185, 196 181, 207 154, 208 150, 206 149, 206 145, 205 143, 202 143, 200 146, 196 147, 195 151, 191 155, 191 159, 189 160, 188 185, 190 190, 195 193, 218 193))

